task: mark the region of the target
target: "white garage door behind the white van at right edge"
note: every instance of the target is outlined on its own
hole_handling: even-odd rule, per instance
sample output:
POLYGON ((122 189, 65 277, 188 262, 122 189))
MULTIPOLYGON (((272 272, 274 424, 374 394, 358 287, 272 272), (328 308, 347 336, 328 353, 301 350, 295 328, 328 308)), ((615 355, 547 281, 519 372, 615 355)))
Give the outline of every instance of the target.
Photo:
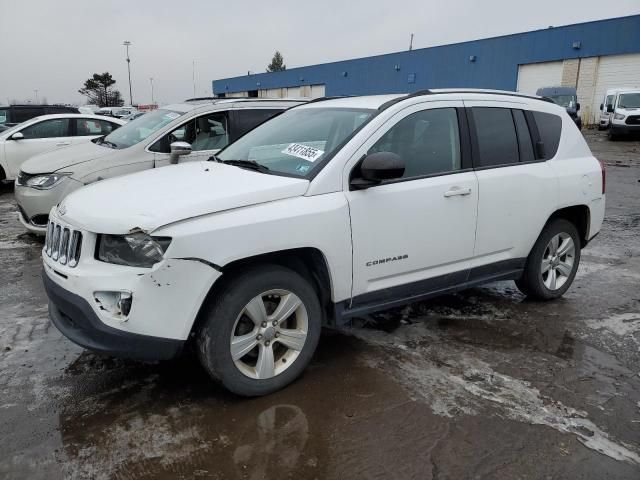
POLYGON ((612 88, 640 88, 640 53, 600 57, 592 112, 600 112, 600 103, 612 88))

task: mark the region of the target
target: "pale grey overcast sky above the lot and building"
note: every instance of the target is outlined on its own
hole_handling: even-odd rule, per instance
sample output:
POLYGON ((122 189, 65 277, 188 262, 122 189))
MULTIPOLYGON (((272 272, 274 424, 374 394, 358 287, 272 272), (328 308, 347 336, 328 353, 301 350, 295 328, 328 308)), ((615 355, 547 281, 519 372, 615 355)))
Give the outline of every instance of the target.
POLYGON ((639 0, 0 0, 0 103, 84 103, 94 72, 110 72, 128 103, 210 95, 211 80, 640 13, 639 0))

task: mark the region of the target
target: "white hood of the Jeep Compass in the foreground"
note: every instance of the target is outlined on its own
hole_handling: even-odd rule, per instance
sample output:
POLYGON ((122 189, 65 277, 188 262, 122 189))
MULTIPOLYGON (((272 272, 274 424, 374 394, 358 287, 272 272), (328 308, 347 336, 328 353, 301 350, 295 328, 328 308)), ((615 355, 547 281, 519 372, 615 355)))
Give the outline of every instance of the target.
POLYGON ((145 232, 209 213, 304 195, 307 180, 193 162, 103 180, 70 194, 58 215, 95 233, 145 232))

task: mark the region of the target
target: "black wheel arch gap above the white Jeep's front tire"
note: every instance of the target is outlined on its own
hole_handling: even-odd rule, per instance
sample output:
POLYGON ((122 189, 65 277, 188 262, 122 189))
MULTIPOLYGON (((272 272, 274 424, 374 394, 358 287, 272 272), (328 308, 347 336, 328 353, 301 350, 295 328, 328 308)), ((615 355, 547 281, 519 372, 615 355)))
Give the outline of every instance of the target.
POLYGON ((213 284, 205 296, 196 319, 191 327, 191 336, 198 331, 205 319, 205 312, 218 290, 231 278, 247 269, 262 265, 279 265, 289 268, 306 278, 318 294, 323 310, 323 324, 331 324, 334 320, 332 301, 332 282, 329 262, 317 248, 304 247, 275 252, 262 253, 251 257, 234 260, 220 267, 222 276, 213 284))

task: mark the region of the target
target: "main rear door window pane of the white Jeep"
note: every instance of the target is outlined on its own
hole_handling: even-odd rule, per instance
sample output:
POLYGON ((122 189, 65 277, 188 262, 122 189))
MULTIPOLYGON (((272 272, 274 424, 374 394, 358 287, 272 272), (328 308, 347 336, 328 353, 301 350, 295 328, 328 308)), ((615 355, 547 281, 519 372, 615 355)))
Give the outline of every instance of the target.
POLYGON ((518 137, 508 108, 473 107, 477 154, 476 167, 518 163, 518 137))

